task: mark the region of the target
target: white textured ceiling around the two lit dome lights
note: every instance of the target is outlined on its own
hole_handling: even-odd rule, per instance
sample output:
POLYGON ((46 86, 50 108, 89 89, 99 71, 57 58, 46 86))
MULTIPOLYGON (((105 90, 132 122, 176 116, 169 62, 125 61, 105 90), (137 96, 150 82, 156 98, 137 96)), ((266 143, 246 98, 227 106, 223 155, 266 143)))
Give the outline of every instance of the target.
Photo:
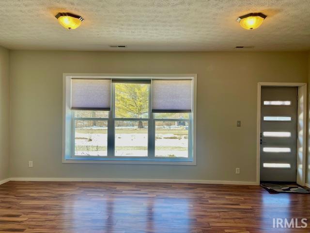
POLYGON ((310 0, 0 0, 0 45, 16 50, 310 50, 310 0), (85 20, 67 31, 54 17, 58 12, 85 20), (250 12, 268 16, 253 31, 236 22, 250 12))

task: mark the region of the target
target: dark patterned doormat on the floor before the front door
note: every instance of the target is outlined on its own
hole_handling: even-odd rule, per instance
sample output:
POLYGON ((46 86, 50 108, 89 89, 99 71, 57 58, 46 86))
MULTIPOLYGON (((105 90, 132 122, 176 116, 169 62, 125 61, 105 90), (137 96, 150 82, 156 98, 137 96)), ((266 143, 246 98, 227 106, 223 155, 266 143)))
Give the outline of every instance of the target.
POLYGON ((310 190, 303 188, 297 184, 279 184, 279 183, 261 183, 261 186, 271 194, 276 193, 306 193, 309 194, 310 190))

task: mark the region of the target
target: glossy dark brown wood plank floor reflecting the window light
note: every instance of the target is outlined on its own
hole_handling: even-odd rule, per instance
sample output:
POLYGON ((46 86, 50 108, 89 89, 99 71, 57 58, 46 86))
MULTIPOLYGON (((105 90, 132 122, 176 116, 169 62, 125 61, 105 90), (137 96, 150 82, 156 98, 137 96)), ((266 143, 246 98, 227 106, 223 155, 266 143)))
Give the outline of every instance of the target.
POLYGON ((272 218, 308 218, 310 195, 259 186, 8 182, 0 185, 0 233, 263 233, 272 218))

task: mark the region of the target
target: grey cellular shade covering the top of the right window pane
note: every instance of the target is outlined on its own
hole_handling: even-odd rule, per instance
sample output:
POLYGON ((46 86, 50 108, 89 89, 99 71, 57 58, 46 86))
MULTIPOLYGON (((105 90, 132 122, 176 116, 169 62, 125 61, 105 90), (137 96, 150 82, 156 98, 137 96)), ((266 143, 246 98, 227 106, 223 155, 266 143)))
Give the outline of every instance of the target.
POLYGON ((153 113, 187 113, 191 111, 191 80, 152 80, 153 113))

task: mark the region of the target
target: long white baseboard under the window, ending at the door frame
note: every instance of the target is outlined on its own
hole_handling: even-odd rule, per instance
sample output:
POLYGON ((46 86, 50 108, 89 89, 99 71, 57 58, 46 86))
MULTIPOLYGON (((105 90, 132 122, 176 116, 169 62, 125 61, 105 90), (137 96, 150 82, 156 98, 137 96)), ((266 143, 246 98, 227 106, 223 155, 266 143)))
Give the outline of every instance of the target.
POLYGON ((250 181, 209 181, 209 180, 170 180, 170 179, 113 179, 113 178, 37 178, 13 177, 11 181, 84 181, 84 182, 149 182, 149 183, 205 183, 205 184, 235 184, 257 185, 250 181))

